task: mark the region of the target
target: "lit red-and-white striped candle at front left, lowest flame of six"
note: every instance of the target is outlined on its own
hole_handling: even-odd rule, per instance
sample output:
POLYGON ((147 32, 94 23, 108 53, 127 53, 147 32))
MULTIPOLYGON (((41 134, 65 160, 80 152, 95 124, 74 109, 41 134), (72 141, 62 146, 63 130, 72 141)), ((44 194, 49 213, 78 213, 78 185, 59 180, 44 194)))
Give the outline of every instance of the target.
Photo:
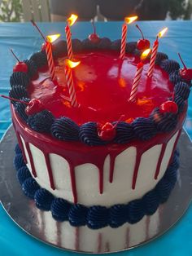
POLYGON ((74 82, 72 78, 72 68, 75 68, 78 64, 80 64, 80 61, 72 62, 71 60, 65 60, 65 77, 68 85, 68 92, 70 101, 72 104, 72 107, 78 107, 77 101, 76 101, 76 90, 74 87, 74 82))

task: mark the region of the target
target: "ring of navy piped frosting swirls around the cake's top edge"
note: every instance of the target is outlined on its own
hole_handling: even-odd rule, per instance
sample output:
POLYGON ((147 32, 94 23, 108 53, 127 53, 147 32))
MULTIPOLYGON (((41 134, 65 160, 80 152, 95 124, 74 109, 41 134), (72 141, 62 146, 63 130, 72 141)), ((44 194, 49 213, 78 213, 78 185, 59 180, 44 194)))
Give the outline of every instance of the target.
MULTIPOLYGON (((72 39, 73 50, 78 53, 80 51, 94 51, 111 49, 112 51, 120 51, 120 39, 112 41, 109 38, 101 38, 98 43, 89 41, 86 38, 83 41, 72 39)), ((128 42, 126 44, 126 52, 134 55, 140 55, 137 51, 137 42, 128 42)), ((67 54, 67 44, 65 41, 55 42, 53 44, 53 55, 59 57, 67 54)), ((47 64, 46 52, 39 51, 34 53, 29 60, 24 60, 28 65, 28 73, 15 72, 11 75, 10 96, 15 99, 28 99, 27 87, 31 77, 37 74, 37 69, 47 64)), ((154 109, 150 117, 138 117, 132 123, 127 124, 120 121, 116 126, 116 136, 111 141, 104 141, 98 137, 98 129, 96 122, 87 122, 78 126, 72 119, 68 117, 60 117, 55 119, 48 110, 36 113, 33 116, 27 116, 24 112, 26 106, 24 104, 14 104, 16 113, 30 126, 31 129, 40 133, 50 133, 55 139, 65 141, 80 141, 89 146, 104 145, 106 143, 129 143, 133 139, 147 140, 161 132, 168 132, 175 129, 180 113, 185 108, 185 100, 190 95, 190 81, 186 81, 180 76, 179 64, 175 60, 168 60, 168 55, 158 52, 156 64, 159 64, 169 75, 169 80, 174 85, 174 101, 178 106, 177 114, 158 113, 158 109, 154 109), (160 120, 155 120, 155 114, 159 114, 160 120), (44 119, 43 119, 44 118, 44 119), (42 121, 43 120, 43 121, 42 121)))

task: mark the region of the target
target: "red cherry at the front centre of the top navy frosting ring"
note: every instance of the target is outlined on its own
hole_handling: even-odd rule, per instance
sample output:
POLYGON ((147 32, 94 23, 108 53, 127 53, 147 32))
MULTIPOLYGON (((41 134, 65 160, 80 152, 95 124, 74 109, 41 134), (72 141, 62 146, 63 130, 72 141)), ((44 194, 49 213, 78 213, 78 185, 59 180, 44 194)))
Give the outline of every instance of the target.
POLYGON ((111 122, 108 121, 104 125, 98 124, 98 137, 106 141, 114 139, 116 137, 116 126, 123 117, 124 115, 120 117, 116 125, 112 125, 111 122))

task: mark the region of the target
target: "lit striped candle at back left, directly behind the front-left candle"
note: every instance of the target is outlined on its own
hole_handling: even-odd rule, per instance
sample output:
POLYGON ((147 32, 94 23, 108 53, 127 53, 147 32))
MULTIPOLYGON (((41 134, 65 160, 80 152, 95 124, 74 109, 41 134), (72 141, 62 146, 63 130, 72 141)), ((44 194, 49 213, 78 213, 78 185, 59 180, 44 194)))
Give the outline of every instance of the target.
POLYGON ((68 59, 72 60, 72 33, 70 30, 70 26, 76 22, 78 18, 77 15, 72 14, 67 20, 67 26, 65 27, 67 46, 68 46, 68 59))

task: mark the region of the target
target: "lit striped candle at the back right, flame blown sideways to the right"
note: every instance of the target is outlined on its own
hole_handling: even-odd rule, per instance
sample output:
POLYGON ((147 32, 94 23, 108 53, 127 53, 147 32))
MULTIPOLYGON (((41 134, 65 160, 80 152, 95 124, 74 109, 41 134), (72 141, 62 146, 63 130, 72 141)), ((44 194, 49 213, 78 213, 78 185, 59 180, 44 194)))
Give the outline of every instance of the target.
POLYGON ((133 17, 125 17, 124 24, 122 25, 122 33, 121 33, 121 46, 120 46, 120 59, 124 60, 125 55, 125 47, 127 41, 127 24, 132 23, 134 20, 137 20, 137 16, 133 17))

